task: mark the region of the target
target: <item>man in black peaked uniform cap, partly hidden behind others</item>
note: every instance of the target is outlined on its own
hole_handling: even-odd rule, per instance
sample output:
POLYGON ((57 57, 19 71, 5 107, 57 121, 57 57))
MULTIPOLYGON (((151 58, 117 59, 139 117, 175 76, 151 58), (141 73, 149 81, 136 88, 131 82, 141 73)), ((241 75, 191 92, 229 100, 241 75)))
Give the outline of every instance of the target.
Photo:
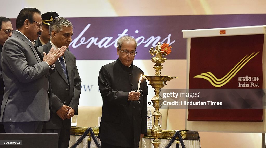
POLYGON ((42 19, 42 29, 43 32, 41 32, 41 35, 38 37, 38 40, 36 40, 35 42, 35 46, 39 47, 41 45, 47 44, 48 41, 50 40, 50 34, 49 34, 49 26, 50 23, 57 17, 59 16, 58 13, 56 12, 46 12, 44 14, 41 15, 41 19, 42 19))

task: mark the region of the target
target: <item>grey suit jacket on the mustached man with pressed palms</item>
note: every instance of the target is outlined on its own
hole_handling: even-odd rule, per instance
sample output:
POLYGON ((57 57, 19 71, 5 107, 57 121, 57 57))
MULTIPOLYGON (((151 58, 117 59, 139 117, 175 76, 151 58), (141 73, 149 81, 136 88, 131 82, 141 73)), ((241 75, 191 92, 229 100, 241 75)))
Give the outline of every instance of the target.
MULTIPOLYGON (((2 49, 5 83, 0 121, 48 121, 49 65, 24 35, 14 31, 2 49)), ((39 53, 40 54, 40 53, 39 53)))

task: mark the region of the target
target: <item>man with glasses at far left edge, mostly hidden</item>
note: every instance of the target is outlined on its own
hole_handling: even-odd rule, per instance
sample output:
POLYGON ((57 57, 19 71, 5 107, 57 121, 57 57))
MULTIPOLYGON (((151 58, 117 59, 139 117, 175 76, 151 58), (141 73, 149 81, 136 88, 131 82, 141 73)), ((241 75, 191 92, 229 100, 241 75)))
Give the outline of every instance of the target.
MULTIPOLYGON (((5 88, 3 75, 2 75, 1 53, 5 41, 12 35, 12 33, 13 33, 13 28, 11 20, 3 16, 0 16, 0 110, 4 97, 4 88, 5 88)), ((5 133, 5 128, 2 122, 0 122, 0 133, 5 133)))

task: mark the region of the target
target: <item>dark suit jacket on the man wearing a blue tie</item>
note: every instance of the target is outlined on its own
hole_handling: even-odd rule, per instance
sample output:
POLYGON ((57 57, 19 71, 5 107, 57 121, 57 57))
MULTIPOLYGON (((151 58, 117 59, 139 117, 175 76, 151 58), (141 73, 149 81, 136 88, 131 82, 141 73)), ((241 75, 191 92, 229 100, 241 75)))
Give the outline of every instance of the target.
MULTIPOLYGON (((50 41, 48 41, 47 44, 40 46, 37 49, 40 53, 45 52, 47 54, 51 48, 52 45, 50 41)), ((44 129, 59 129, 61 128, 62 123, 65 128, 71 128, 71 119, 62 120, 56 114, 56 111, 58 111, 63 104, 72 107, 75 110, 75 115, 78 113, 81 79, 76 66, 76 58, 67 50, 65 51, 64 56, 68 79, 65 77, 59 60, 57 60, 55 62, 54 71, 52 73, 50 72, 52 92, 56 96, 56 99, 53 99, 52 101, 53 116, 51 121, 44 124, 44 129)))

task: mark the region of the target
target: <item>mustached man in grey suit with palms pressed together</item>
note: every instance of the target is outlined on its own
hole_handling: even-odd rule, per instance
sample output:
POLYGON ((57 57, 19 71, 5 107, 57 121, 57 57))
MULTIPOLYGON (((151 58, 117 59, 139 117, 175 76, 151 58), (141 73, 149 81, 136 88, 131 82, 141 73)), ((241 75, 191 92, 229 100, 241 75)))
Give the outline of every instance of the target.
MULTIPOLYGON (((16 19, 13 35, 3 45, 1 64, 5 83, 0 121, 7 133, 40 133, 50 120, 52 97, 49 69, 66 47, 41 54, 34 46, 41 33, 41 15, 36 8, 24 8, 16 19), (42 56, 44 55, 44 56, 42 56), (42 59, 42 61, 41 61, 42 59)), ((52 66, 53 67, 53 66, 52 66)))

